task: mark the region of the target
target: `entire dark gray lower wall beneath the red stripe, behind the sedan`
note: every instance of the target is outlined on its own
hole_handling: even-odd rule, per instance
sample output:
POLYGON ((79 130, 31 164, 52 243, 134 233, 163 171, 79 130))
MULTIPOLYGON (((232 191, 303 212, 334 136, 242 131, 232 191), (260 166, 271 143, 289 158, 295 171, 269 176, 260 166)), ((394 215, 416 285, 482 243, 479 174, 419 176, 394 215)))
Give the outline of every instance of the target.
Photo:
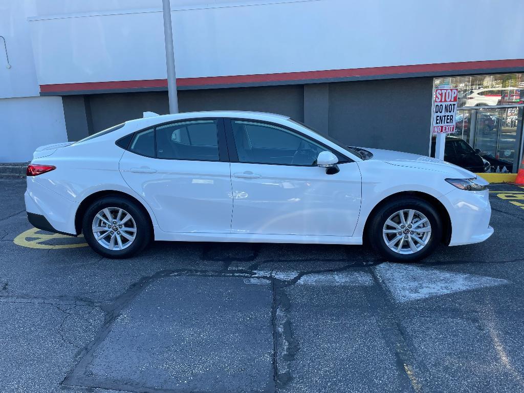
MULTIPOLYGON (((179 91, 181 112, 272 112, 304 122, 347 145, 428 154, 432 78, 179 91)), ((70 140, 169 112, 167 92, 64 96, 70 140)))

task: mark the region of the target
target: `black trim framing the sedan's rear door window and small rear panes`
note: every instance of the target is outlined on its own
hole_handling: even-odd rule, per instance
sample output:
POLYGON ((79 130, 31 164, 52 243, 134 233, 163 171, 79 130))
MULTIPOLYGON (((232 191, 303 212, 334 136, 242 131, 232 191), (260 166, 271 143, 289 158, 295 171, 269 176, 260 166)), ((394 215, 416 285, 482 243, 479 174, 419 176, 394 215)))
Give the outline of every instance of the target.
MULTIPOLYGON (((228 155, 228 149, 227 149, 227 146, 226 146, 226 136, 225 136, 225 130, 224 130, 224 118, 223 117, 192 117, 192 118, 187 118, 187 119, 179 119, 179 120, 176 120, 176 121, 169 121, 169 122, 163 122, 163 123, 150 125, 148 127, 144 127, 144 128, 138 129, 138 130, 136 130, 132 134, 133 134, 133 137, 130 139, 129 144, 127 145, 127 148, 125 150, 129 151, 130 153, 136 154, 137 156, 153 158, 153 159, 156 159, 156 160, 230 162, 229 155, 228 155), (194 159, 194 158, 164 158, 164 157, 158 157, 158 152, 157 152, 157 127, 162 127, 162 126, 166 126, 166 125, 170 125, 170 124, 187 123, 187 122, 192 122, 192 121, 203 121, 203 120, 216 121, 217 147, 219 149, 219 159, 218 160, 200 160, 200 159, 194 159), (132 143, 133 139, 135 138, 136 134, 141 133, 141 132, 146 131, 146 130, 151 129, 151 128, 153 129, 153 133, 154 133, 155 156, 154 157, 145 156, 143 154, 139 154, 139 153, 137 153, 135 151, 130 150, 131 143, 132 143)), ((119 140, 127 137, 128 135, 125 135, 122 138, 119 138, 118 140, 116 140, 116 142, 118 142, 119 140)))

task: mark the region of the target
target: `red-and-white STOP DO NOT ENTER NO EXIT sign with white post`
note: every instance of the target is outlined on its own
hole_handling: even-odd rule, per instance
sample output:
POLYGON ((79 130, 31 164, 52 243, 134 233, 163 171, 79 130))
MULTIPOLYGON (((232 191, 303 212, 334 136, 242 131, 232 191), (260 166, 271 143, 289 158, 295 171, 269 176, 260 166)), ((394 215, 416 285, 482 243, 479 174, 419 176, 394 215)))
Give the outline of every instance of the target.
POLYGON ((435 89, 431 133, 436 135, 435 158, 440 160, 444 159, 446 134, 455 132, 458 99, 458 89, 435 89))

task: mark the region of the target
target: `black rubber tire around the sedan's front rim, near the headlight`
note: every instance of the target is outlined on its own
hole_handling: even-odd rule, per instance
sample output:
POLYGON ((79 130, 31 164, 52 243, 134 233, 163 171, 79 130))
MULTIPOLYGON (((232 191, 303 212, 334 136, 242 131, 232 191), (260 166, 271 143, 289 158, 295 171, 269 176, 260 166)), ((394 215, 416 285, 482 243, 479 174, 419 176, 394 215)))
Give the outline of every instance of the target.
MULTIPOLYGON (((442 240, 442 219, 438 211, 429 202, 416 198, 406 197, 388 201, 381 205, 378 210, 370 217, 367 226, 367 241, 375 252, 389 261, 395 262, 415 262, 428 255, 441 243, 442 240), (401 210, 416 210, 427 217, 431 225, 431 236, 425 246, 418 252, 412 254, 399 254, 390 249, 383 237, 383 228, 389 217, 401 210)), ((392 235, 394 236, 394 235, 392 235)), ((406 247, 408 245, 406 244, 406 247)))

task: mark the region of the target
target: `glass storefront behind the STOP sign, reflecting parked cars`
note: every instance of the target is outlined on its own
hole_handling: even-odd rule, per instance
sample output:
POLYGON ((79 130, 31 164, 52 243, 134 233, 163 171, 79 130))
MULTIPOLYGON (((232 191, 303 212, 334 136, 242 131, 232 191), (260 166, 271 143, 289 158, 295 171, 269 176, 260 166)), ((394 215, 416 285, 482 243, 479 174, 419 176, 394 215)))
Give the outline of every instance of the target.
MULTIPOLYGON (((491 165, 516 172, 522 156, 524 74, 435 78, 433 88, 459 89, 455 134, 491 165)), ((445 150, 447 150, 447 144, 445 150)), ((445 160, 466 167, 465 152, 445 151, 445 160)), ((470 168, 466 168, 470 169, 470 168)))

